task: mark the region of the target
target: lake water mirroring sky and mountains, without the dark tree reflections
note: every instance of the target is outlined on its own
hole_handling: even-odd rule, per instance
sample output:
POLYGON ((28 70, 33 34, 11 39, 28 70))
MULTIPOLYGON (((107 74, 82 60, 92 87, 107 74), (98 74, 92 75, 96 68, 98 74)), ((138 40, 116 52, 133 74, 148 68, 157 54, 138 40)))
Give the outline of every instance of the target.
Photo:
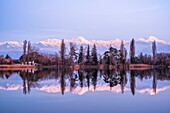
POLYGON ((0 78, 0 112, 2 113, 169 113, 170 81, 158 80, 156 92, 153 95, 153 77, 142 79, 135 77, 135 95, 131 93, 130 75, 127 73, 127 84, 124 93, 121 85, 112 88, 97 76, 96 88, 86 79, 81 88, 79 81, 70 91, 70 80, 65 77, 65 93, 61 95, 60 79, 49 77, 34 82, 31 92, 23 94, 23 80, 13 74, 8 79, 0 78), (34 86, 34 87, 33 87, 34 86), (8 91, 7 91, 8 90, 8 91), (81 96, 80 96, 81 95, 81 96))

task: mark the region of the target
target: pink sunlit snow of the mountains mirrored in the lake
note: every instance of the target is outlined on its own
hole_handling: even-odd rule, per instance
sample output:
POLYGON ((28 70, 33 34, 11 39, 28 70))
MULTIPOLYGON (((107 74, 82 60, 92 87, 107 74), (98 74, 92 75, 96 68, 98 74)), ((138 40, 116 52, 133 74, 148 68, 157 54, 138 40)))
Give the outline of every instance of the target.
MULTIPOLYGON (((0 86, 0 90, 22 90, 23 89, 23 85, 22 84, 7 84, 6 87, 4 86, 0 86)), ((61 92, 61 86, 60 85, 44 85, 41 87, 36 87, 37 90, 41 90, 44 92, 48 92, 48 93, 60 93, 61 92)), ((124 91, 130 91, 130 88, 125 87, 124 91)), ((157 88, 156 89, 156 94, 159 92, 163 92, 166 90, 170 90, 170 86, 164 86, 161 88, 157 88)), ((99 92, 103 92, 103 91, 110 91, 113 93, 121 93, 121 86, 115 86, 113 88, 110 88, 108 85, 97 85, 96 89, 94 90, 94 86, 90 86, 88 87, 79 87, 77 86, 76 88, 74 88, 72 90, 72 94, 77 94, 77 95, 83 95, 86 92, 89 91, 99 91, 99 92)), ((66 87, 65 88, 65 93, 70 92, 70 88, 66 87)), ((153 91, 152 88, 143 88, 143 89, 136 89, 136 92, 139 94, 148 94, 148 95, 155 95, 155 92, 153 91)))

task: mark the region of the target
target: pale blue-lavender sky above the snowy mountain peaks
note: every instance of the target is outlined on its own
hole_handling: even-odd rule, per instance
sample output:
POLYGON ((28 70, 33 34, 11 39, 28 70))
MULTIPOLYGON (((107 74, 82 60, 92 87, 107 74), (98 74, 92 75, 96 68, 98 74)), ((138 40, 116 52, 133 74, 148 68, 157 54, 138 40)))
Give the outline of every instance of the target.
POLYGON ((0 42, 78 36, 170 41, 170 0, 0 0, 0 42))

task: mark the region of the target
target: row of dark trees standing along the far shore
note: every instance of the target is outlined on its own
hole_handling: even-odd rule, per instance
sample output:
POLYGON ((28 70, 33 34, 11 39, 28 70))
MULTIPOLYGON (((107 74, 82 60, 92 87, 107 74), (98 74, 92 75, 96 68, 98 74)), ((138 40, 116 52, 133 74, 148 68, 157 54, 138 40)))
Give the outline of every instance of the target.
MULTIPOLYGON (((152 42, 152 56, 143 54, 142 52, 136 56, 135 54, 135 40, 130 42, 129 57, 127 57, 127 49, 124 42, 121 41, 120 49, 114 48, 110 45, 108 50, 99 55, 97 47, 93 44, 80 48, 76 44, 70 43, 69 48, 66 48, 64 39, 61 40, 60 51, 56 54, 41 53, 39 48, 32 46, 30 41, 24 40, 23 54, 19 58, 20 63, 29 65, 57 65, 60 67, 83 65, 83 66, 96 66, 103 65, 107 68, 111 65, 126 67, 128 64, 149 64, 149 65, 170 65, 170 54, 157 53, 156 41, 152 42), (69 52, 66 52, 69 51, 69 52)), ((0 56, 0 64, 13 64, 12 58, 7 55, 0 56)))

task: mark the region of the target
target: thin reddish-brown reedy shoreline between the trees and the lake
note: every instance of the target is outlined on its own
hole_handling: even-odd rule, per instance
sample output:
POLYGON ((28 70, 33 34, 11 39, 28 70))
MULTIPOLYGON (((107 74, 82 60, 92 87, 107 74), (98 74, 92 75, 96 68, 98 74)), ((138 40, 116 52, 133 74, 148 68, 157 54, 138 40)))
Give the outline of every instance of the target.
MULTIPOLYGON (((27 70, 27 69, 43 69, 43 68, 49 68, 49 69, 63 69, 63 66, 56 66, 56 65, 50 65, 50 66, 35 66, 35 65, 27 65, 27 64, 5 64, 5 65, 0 65, 0 70, 27 70)), ((73 66, 68 66, 66 68, 69 69, 125 69, 125 70, 148 70, 148 69, 154 69, 156 66, 154 65, 148 65, 148 64, 129 64, 129 65, 78 65, 75 64, 73 66)), ((167 67, 168 69, 170 66, 167 67)))

